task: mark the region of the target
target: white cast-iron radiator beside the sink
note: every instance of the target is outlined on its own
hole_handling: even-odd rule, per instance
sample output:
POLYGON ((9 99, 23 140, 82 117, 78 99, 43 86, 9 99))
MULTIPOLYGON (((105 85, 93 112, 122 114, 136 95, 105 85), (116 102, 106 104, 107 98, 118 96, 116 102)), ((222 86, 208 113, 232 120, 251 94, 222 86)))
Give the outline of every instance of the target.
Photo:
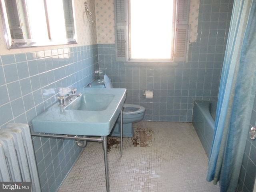
POLYGON ((41 192, 28 124, 0 129, 0 162, 1 182, 32 182, 32 191, 41 192))

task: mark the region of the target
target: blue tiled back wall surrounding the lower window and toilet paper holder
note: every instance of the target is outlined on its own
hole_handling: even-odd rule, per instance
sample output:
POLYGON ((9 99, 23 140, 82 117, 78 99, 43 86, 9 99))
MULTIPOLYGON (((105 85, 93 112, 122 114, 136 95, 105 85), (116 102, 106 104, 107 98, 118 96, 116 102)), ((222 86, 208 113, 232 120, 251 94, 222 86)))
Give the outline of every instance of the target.
POLYGON ((144 120, 191 122, 194 100, 217 100, 232 0, 200 0, 198 36, 190 43, 188 63, 178 67, 124 66, 114 44, 98 44, 100 70, 114 88, 127 88, 126 103, 146 108, 144 120), (142 90, 154 90, 146 99, 142 90))

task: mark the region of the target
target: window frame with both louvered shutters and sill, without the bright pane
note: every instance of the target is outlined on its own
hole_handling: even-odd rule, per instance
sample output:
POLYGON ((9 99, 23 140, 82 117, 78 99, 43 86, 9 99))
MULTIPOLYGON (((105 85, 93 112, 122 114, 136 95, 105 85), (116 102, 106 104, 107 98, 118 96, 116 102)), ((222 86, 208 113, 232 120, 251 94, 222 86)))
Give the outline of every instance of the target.
POLYGON ((177 66, 178 62, 188 58, 189 44, 189 6, 190 0, 174 0, 174 57, 173 60, 130 60, 129 52, 129 2, 130 0, 114 0, 116 60, 125 65, 148 66, 149 64, 177 66), (182 32, 182 33, 180 33, 182 32), (179 35, 180 34, 180 35, 179 35))

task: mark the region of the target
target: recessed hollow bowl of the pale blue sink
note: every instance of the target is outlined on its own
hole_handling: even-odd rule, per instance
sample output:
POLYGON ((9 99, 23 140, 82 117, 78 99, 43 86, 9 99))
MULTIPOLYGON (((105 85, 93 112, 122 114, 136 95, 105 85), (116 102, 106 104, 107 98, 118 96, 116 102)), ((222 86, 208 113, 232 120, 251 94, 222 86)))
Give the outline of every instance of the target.
POLYGON ((113 94, 82 94, 64 110, 102 111, 106 110, 113 98, 113 94))

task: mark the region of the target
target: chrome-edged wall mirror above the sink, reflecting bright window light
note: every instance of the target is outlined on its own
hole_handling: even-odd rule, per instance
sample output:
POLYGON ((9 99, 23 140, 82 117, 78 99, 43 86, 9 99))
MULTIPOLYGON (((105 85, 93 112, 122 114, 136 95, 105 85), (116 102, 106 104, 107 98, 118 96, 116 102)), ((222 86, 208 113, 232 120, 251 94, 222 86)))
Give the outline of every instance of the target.
POLYGON ((1 0, 8 48, 76 43, 72 0, 1 0))

